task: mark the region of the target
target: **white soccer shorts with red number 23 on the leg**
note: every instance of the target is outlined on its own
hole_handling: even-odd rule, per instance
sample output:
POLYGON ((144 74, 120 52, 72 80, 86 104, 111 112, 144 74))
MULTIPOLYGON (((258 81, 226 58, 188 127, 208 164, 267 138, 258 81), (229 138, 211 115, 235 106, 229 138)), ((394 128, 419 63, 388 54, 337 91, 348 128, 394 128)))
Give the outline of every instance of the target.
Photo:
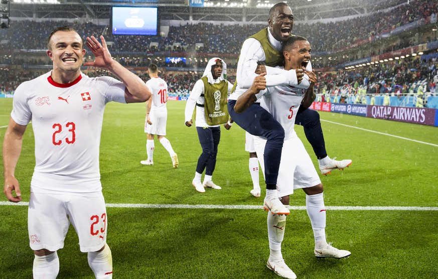
POLYGON ((102 193, 98 197, 81 197, 31 192, 28 230, 33 250, 63 248, 70 223, 78 234, 81 252, 102 248, 108 227, 102 193))

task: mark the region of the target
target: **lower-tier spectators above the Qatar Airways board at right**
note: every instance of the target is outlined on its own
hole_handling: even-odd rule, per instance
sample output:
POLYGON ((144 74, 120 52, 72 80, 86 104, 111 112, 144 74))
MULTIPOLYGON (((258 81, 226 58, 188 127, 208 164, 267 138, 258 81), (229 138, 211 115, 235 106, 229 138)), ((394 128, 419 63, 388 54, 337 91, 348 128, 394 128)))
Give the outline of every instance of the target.
POLYGON ((391 64, 376 64, 355 71, 338 71, 319 76, 316 91, 320 100, 330 97, 363 103, 364 95, 438 94, 438 60, 409 57, 391 64), (359 96, 359 97, 358 97, 359 96))

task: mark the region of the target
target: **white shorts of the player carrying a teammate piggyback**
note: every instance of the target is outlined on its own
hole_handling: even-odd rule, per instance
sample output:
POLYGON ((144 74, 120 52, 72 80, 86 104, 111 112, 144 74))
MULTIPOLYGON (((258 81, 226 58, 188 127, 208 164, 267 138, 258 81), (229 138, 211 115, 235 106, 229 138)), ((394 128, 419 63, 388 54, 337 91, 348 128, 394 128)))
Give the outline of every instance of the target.
MULTIPOLYGON (((264 151, 266 139, 254 136, 254 145, 264 176, 264 151)), ((304 148, 301 139, 295 135, 286 139, 281 151, 280 169, 278 171, 278 196, 284 197, 294 193, 294 189, 313 187, 321 183, 312 159, 304 148)))

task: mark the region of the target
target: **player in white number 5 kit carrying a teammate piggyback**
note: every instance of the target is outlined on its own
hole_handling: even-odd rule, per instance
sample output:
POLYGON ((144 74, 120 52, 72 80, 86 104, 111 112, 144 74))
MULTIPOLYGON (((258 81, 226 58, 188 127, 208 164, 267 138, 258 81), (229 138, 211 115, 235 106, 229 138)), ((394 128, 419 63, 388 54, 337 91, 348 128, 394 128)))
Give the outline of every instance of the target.
MULTIPOLYGON (((282 49, 285 70, 304 69, 310 61, 311 47, 304 37, 290 37, 283 43, 282 49)), ((314 231, 315 256, 319 258, 343 258, 351 253, 346 250, 336 249, 326 241, 326 209, 324 206, 323 185, 309 154, 294 130, 295 117, 300 105, 303 103, 303 105, 309 106, 315 99, 313 86, 316 82, 315 73, 305 71, 300 85, 289 86, 285 84, 283 86, 265 87, 263 73, 256 77, 251 88, 238 98, 235 108, 237 110, 244 109, 257 98, 263 96, 261 106, 272 114, 285 131, 277 180, 278 196, 281 197, 281 202, 288 206, 289 195, 294 193, 294 189, 302 188, 306 193, 306 209, 314 231), (259 90, 262 91, 259 92, 259 90)), ((263 154, 266 139, 255 137, 254 142, 256 153, 263 154)), ((263 156, 259 156, 259 158, 260 161, 263 160, 263 156)), ((260 165, 264 172, 263 164, 260 165)), ((296 278, 295 273, 284 263, 281 255, 281 242, 284 237, 286 216, 268 214, 267 224, 270 249, 267 267, 279 276, 296 278)))

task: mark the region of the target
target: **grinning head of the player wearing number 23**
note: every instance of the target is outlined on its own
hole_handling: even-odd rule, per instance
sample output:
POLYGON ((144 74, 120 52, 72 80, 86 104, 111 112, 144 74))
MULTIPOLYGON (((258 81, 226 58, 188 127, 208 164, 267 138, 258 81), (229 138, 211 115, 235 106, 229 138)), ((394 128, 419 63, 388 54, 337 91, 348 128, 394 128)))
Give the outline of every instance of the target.
POLYGON ((58 31, 49 41, 47 55, 53 61, 53 70, 65 73, 79 72, 84 62, 85 49, 75 31, 58 31))

